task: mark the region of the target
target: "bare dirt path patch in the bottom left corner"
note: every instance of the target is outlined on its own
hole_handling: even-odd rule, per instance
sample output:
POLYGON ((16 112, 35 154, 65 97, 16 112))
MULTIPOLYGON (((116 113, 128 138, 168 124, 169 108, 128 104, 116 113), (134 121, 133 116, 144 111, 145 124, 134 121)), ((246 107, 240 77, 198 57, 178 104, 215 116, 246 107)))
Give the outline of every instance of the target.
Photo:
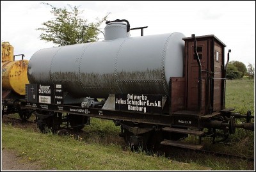
POLYGON ((29 162, 22 162, 22 158, 17 157, 15 152, 10 150, 2 150, 2 164, 1 164, 1 171, 2 170, 39 170, 41 169, 35 163, 29 162))

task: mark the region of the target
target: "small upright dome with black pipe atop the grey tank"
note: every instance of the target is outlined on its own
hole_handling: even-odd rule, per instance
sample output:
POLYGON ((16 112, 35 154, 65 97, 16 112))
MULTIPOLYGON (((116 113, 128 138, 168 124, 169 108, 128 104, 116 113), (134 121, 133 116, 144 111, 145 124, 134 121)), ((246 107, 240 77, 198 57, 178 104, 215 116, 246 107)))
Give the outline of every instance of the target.
POLYGON ((127 20, 116 19, 114 21, 107 21, 107 26, 104 29, 104 40, 115 40, 118 38, 130 37, 130 24, 127 20), (127 22, 124 23, 124 22, 127 22))

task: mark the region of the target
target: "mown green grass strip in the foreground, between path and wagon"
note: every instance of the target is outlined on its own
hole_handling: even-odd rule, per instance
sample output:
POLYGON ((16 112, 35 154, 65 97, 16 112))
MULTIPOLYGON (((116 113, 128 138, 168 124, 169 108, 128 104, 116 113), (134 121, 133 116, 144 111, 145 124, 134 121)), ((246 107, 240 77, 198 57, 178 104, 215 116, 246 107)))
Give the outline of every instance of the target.
POLYGON ((195 163, 175 162, 165 157, 124 151, 120 145, 88 144, 73 136, 40 134, 2 126, 3 149, 15 150, 42 169, 57 170, 204 170, 195 163))

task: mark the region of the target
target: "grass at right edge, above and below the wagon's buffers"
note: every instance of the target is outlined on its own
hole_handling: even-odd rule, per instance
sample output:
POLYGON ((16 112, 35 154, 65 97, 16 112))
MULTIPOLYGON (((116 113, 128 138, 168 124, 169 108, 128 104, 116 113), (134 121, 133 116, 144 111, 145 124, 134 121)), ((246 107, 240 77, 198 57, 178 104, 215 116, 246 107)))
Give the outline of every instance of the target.
MULTIPOLYGON (((228 80, 226 89, 226 108, 234 107, 235 113, 246 115, 250 109, 252 116, 255 116, 255 80, 241 79, 228 80)), ((237 119, 237 123, 246 120, 237 119)), ((252 118, 252 122, 255 119, 252 118)), ((236 133, 231 135, 228 143, 232 145, 230 152, 236 152, 239 155, 250 155, 254 157, 255 152, 255 134, 250 130, 236 129, 236 133)))

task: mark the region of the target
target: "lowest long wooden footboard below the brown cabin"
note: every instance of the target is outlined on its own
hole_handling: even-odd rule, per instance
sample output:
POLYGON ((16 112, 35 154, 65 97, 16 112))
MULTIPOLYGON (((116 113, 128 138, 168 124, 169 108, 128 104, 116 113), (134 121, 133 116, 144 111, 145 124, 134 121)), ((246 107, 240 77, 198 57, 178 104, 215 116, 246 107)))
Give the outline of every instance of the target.
POLYGON ((191 143, 184 143, 180 141, 170 141, 170 140, 161 141, 161 145, 176 146, 180 148, 187 148, 187 149, 193 149, 193 150, 201 150, 204 147, 204 145, 195 145, 191 143))

